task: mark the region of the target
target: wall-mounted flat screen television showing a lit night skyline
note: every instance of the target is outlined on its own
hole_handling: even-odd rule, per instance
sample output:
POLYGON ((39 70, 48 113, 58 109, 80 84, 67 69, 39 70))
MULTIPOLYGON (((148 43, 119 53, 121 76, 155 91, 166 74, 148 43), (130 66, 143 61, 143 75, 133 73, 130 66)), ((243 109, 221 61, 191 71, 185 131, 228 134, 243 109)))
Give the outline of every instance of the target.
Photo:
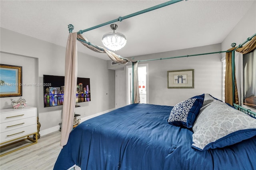
MULTIPOLYGON (((44 75, 44 107, 63 105, 64 76, 44 75)), ((77 77, 76 103, 91 101, 90 78, 77 77)))

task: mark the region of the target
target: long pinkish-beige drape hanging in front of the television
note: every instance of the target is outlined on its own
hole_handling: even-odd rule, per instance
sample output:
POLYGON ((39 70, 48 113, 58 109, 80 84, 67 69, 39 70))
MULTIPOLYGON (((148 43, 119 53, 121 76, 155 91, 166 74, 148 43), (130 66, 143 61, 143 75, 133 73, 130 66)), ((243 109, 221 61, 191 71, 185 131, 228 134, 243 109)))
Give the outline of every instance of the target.
POLYGON ((62 125, 60 146, 68 142, 68 136, 73 129, 74 110, 76 105, 77 81, 77 33, 70 33, 66 47, 65 59, 65 89, 62 110, 62 125))

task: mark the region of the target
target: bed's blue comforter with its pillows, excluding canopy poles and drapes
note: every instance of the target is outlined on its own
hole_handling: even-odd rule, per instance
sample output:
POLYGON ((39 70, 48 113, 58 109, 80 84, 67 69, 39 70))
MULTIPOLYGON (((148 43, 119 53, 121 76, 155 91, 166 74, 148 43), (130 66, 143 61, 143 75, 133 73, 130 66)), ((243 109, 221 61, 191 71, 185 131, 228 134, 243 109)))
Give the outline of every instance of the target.
POLYGON ((54 170, 254 170, 255 158, 256 119, 202 94, 175 106, 131 104, 84 121, 54 170), (188 114, 177 117, 182 108, 188 114))

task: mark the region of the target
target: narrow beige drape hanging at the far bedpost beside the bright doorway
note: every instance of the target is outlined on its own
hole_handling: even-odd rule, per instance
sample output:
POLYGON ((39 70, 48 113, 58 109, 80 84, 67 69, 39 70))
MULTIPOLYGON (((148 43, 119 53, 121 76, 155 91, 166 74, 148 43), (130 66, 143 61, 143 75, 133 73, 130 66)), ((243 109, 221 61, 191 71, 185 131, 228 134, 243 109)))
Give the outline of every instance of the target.
POLYGON ((138 80, 138 62, 134 62, 133 65, 133 99, 134 103, 140 103, 140 91, 139 91, 139 80, 138 80))

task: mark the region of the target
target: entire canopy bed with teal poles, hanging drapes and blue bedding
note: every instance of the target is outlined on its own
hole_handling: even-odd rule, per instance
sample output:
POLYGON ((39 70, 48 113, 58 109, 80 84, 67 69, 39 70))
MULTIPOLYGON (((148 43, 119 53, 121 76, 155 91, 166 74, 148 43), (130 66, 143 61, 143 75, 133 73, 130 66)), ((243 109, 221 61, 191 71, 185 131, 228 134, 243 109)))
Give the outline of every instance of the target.
MULTIPOLYGON (((252 160, 256 156, 256 113, 250 109, 246 109, 238 105, 235 102, 236 80, 234 63, 235 51, 242 47, 242 45, 244 45, 246 42, 249 42, 253 38, 255 39, 256 34, 249 37, 244 43, 238 45, 238 47, 233 47, 232 50, 229 49, 227 51, 217 51, 139 61, 123 58, 119 55, 116 55, 111 51, 90 43, 81 35, 83 32, 111 24, 113 22, 121 22, 122 20, 132 16, 149 12, 151 10, 155 10, 180 1, 182 0, 171 0, 158 6, 130 14, 128 16, 119 17, 116 20, 88 28, 86 30, 80 30, 77 33, 72 33, 72 30, 74 29, 72 24, 68 25, 70 32, 68 42, 70 41, 72 43, 67 44, 66 64, 69 63, 72 66, 75 66, 75 69, 72 69, 72 66, 69 67, 70 65, 68 65, 68 67, 65 66, 68 68, 65 69, 65 77, 67 77, 67 82, 72 83, 74 81, 73 85, 76 84, 76 40, 80 41, 82 44, 96 52, 107 53, 107 55, 116 63, 124 65, 127 62, 132 62, 134 79, 136 79, 136 71, 134 70, 136 70, 138 62, 172 59, 179 57, 192 57, 197 55, 208 55, 224 52, 232 53, 232 93, 228 95, 232 96, 232 102, 229 104, 233 105, 235 109, 228 106, 226 104, 228 102, 224 103, 209 94, 202 94, 191 97, 186 101, 178 103, 174 107, 138 104, 138 93, 136 93, 136 82, 138 82, 138 80, 134 80, 132 82, 134 84, 132 91, 132 105, 128 105, 104 115, 89 119, 88 121, 81 123, 78 125, 78 127, 72 130, 70 127, 72 127, 72 113, 74 113, 75 105, 73 102, 74 95, 72 95, 72 93, 74 93, 74 89, 72 89, 72 84, 69 84, 68 88, 66 88, 65 79, 65 90, 67 89, 70 91, 70 96, 66 98, 64 96, 64 100, 69 101, 66 102, 66 105, 69 106, 65 106, 64 103, 62 113, 62 126, 66 128, 62 129, 63 137, 61 138, 61 146, 64 147, 60 152, 54 169, 74 169, 74 166, 80 166, 82 169, 118 170, 155 170, 166 169, 168 167, 171 168, 172 166, 174 167, 173 169, 184 169, 185 167, 182 168, 182 166, 190 166, 190 164, 193 164, 194 162, 197 162, 197 165, 190 166, 190 169, 229 169, 230 167, 233 167, 234 169, 256 168, 256 162, 253 162, 252 160), (72 50, 68 49, 68 47, 71 46, 72 50), (189 112, 187 114, 186 121, 177 121, 179 118, 175 117, 175 115, 177 115, 177 110, 178 112, 180 111, 179 108, 184 104, 184 102, 192 102, 192 110, 194 105, 196 105, 196 108, 194 108, 193 111, 191 111, 191 108, 188 109, 189 112), (243 114, 240 111, 246 114, 243 114), (191 117, 189 117, 190 114, 192 114, 191 117), (150 117, 148 117, 149 115, 150 117), (242 123, 238 124, 239 126, 233 124, 227 125, 228 127, 236 128, 236 130, 231 128, 233 131, 228 132, 224 136, 212 139, 210 142, 201 141, 203 138, 206 140, 209 138, 209 136, 204 136, 206 133, 203 131, 209 126, 207 125, 206 127, 201 127, 201 124, 207 122, 209 115, 215 115, 217 118, 221 119, 222 116, 228 116, 228 119, 233 119, 232 117, 235 115, 237 117, 242 117, 241 119, 246 121, 242 121, 242 123), (184 124, 184 122, 186 123, 184 124), (135 125, 138 125, 138 127, 135 125), (248 125, 248 127, 240 127, 240 125, 248 125), (174 134, 174 137, 172 137, 172 135, 170 136, 170 133, 174 134), (81 136, 81 139, 78 138, 78 136, 81 136), (168 138, 166 138, 166 136, 168 136, 168 138), (119 144, 120 148, 118 147, 119 144), (94 150, 95 148, 97 149, 94 150), (178 151, 177 149, 176 151, 176 148, 179 148, 180 150, 178 151), (138 150, 142 150, 143 152, 138 152, 138 150), (175 151, 177 154, 174 156, 175 151), (189 154, 189 158, 186 156, 180 156, 186 154, 189 154), (116 158, 116 156, 118 156, 118 158, 116 158), (229 160, 227 160, 226 157, 229 157, 229 160), (206 158, 206 160, 201 158, 206 158), (241 161, 242 163, 238 163, 236 161, 242 158, 248 158, 248 160, 244 162, 241 161), (154 162, 153 160, 156 160, 157 162, 154 162)), ((234 43, 232 43, 232 45, 234 45, 234 43)), ((210 118, 210 121, 212 121, 212 119, 213 118, 210 118)), ((226 117, 223 118, 223 120, 224 119, 226 119, 226 117)), ((212 134, 210 135, 210 138, 212 138, 212 136, 218 135, 219 134, 212 134)))

